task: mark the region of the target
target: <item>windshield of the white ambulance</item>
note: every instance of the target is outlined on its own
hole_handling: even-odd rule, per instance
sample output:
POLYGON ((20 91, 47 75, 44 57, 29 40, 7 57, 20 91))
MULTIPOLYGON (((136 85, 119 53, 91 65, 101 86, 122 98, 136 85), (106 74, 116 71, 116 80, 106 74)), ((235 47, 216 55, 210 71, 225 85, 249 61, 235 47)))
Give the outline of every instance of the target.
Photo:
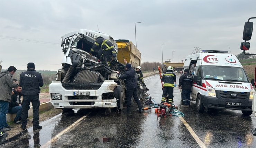
POLYGON ((202 66, 202 71, 205 80, 249 82, 243 67, 202 66))

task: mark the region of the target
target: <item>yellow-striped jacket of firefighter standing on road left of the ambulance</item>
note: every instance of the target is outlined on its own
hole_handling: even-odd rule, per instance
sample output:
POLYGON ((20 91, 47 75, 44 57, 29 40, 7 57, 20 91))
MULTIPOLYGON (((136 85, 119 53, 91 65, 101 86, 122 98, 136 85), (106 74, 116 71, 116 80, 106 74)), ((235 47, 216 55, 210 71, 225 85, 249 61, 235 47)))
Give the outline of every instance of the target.
POLYGON ((176 75, 167 70, 166 73, 162 76, 162 81, 164 82, 164 87, 171 87, 174 88, 174 82, 176 82, 176 75))

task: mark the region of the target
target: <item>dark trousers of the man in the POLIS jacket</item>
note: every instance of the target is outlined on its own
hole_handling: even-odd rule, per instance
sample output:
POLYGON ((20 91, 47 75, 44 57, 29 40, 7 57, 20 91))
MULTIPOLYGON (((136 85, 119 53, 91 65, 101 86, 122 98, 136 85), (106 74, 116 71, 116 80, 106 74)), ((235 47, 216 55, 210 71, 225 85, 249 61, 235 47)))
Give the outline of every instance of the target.
POLYGON ((24 126, 26 126, 28 123, 27 118, 28 118, 28 109, 29 109, 30 102, 32 103, 32 106, 33 106, 33 121, 32 121, 32 123, 33 123, 33 126, 38 126, 39 125, 39 106, 40 106, 40 101, 39 101, 38 95, 23 96, 21 123, 24 126))

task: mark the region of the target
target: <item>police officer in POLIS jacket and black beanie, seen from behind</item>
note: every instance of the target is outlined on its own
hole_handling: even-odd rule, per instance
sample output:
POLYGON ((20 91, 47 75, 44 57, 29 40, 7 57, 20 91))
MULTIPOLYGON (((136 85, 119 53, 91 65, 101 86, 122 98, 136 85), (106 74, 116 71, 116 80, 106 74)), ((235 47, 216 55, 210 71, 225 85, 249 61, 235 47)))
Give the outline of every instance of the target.
POLYGON ((32 102, 33 106, 33 130, 41 129, 39 125, 39 93, 40 87, 44 85, 42 75, 35 70, 34 63, 28 63, 28 70, 20 74, 20 86, 22 86, 22 113, 21 113, 21 129, 25 130, 28 123, 28 109, 32 102))

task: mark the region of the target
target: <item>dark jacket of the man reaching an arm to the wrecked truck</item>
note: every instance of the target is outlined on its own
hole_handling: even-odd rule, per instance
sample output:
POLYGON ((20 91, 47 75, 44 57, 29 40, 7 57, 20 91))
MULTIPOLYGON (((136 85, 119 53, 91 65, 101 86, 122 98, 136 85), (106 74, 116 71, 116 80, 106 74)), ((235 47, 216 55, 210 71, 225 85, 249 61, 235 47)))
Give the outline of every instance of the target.
POLYGON ((118 74, 119 78, 126 79, 126 89, 137 88, 137 80, 135 78, 135 71, 129 68, 124 75, 118 74))

